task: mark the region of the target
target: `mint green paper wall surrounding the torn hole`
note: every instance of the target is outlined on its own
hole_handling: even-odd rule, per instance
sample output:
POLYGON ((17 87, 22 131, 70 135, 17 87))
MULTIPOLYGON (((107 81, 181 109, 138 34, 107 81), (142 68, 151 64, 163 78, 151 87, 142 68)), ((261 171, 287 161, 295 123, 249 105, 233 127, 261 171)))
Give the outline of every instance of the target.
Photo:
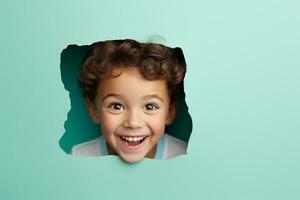
POLYGON ((299 1, 0 4, 0 199, 300 198, 299 1), (67 156, 60 52, 153 34, 186 56, 188 156, 67 156))

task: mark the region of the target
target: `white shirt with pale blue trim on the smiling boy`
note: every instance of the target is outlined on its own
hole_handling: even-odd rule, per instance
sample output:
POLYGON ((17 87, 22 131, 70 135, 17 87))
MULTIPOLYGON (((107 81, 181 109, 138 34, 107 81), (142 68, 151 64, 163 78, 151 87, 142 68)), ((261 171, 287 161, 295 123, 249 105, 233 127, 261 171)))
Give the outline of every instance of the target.
MULTIPOLYGON (((186 154, 187 144, 165 133, 158 142, 155 159, 167 160, 186 154)), ((103 135, 72 147, 73 156, 106 156, 108 155, 106 140, 103 135)))

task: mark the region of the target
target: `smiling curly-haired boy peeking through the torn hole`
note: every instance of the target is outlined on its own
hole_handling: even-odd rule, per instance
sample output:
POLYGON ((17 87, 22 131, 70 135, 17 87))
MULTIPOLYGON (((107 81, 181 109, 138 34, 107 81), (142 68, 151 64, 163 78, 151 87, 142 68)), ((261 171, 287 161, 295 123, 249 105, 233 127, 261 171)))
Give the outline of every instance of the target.
POLYGON ((94 43, 78 81, 103 134, 71 154, 118 155, 129 163, 186 154, 185 142, 164 133, 184 95, 185 72, 180 48, 129 39, 94 43))

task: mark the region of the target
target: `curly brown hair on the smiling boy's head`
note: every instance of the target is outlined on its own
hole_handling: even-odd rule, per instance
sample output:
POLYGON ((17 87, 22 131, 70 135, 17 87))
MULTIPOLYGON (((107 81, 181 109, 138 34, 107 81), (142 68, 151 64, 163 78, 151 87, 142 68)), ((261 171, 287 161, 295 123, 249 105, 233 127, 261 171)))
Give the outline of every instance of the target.
POLYGON ((120 67, 137 67, 147 80, 166 80, 171 104, 184 97, 186 63, 181 48, 135 40, 107 40, 92 44, 78 76, 84 98, 94 102, 98 83, 120 67))

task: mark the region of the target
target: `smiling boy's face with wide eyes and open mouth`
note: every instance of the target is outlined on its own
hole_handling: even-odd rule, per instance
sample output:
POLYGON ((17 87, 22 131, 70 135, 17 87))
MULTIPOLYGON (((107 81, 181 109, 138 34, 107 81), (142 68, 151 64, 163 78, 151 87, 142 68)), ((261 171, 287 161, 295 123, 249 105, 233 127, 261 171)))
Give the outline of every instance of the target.
POLYGON ((90 116, 101 124, 108 148, 123 160, 153 158, 165 125, 175 116, 166 81, 146 80, 135 67, 114 70, 113 75, 119 76, 99 83, 95 104, 87 101, 90 116))

